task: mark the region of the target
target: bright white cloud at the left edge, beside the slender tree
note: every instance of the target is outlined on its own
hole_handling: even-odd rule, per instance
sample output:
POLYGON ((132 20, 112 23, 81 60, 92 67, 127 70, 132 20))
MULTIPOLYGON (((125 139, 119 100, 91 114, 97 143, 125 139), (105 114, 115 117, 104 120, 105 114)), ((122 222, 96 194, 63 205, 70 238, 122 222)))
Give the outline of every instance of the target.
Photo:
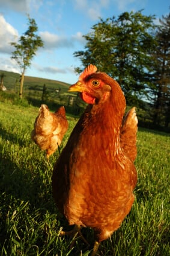
POLYGON ((0 14, 0 31, 0 52, 10 54, 13 51, 10 42, 16 41, 19 34, 15 28, 5 21, 2 14, 0 14))

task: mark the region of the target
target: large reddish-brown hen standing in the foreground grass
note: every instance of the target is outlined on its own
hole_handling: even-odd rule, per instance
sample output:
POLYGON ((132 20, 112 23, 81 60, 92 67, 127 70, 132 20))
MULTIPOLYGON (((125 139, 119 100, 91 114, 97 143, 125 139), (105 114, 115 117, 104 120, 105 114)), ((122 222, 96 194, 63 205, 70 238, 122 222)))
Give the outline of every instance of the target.
POLYGON ((123 120, 126 101, 120 85, 96 71, 96 66, 88 66, 70 87, 89 105, 52 175, 53 197, 68 223, 94 229, 93 255, 120 227, 134 202, 138 123, 135 107, 123 120))

